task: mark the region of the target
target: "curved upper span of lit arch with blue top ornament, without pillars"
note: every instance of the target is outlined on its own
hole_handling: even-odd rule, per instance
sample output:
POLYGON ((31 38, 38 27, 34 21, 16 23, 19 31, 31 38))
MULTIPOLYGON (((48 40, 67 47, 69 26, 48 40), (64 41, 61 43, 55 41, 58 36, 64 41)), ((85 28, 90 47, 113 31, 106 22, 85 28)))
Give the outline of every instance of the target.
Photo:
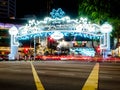
POLYGON ((35 36, 55 36, 56 32, 63 36, 71 34, 89 39, 100 39, 104 36, 104 32, 101 30, 103 26, 91 23, 87 18, 71 19, 69 16, 65 16, 65 12, 61 8, 53 9, 50 15, 51 17, 46 17, 44 20, 28 21, 25 26, 18 28, 15 39, 25 40, 35 36))

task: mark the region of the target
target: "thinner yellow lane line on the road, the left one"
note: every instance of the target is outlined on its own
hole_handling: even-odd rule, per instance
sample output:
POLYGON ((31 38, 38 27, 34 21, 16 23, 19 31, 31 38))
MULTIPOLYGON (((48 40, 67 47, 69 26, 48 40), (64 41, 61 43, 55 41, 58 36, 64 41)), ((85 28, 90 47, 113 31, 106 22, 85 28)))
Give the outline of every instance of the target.
POLYGON ((40 81, 40 79, 39 79, 39 77, 38 77, 38 74, 37 74, 32 62, 30 62, 30 64, 31 64, 31 67, 32 67, 32 73, 33 73, 33 77, 34 77, 34 81, 35 81, 37 90, 45 90, 41 81, 40 81))

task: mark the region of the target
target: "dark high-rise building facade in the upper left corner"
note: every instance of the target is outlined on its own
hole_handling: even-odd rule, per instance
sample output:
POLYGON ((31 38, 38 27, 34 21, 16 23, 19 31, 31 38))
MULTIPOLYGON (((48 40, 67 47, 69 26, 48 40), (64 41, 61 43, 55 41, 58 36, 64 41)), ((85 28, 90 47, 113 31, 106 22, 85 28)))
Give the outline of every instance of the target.
POLYGON ((16 0, 0 0, 0 18, 16 17, 16 0))

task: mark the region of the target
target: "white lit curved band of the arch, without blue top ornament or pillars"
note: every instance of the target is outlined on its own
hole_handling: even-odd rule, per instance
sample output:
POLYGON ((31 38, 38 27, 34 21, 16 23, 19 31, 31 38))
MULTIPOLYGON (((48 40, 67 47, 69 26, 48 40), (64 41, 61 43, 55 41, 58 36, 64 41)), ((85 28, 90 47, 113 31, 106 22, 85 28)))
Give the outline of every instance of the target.
MULTIPOLYGON (((41 21, 30 20, 28 24, 21 27, 21 29, 19 29, 18 39, 23 39, 22 37, 24 37, 25 39, 26 36, 31 36, 31 34, 48 36, 52 34, 51 32, 54 31, 59 31, 65 36, 68 36, 69 33, 72 33, 73 35, 81 35, 78 33, 82 33, 90 34, 92 35, 92 37, 94 35, 96 37, 100 37, 101 35, 97 34, 98 30, 100 30, 100 27, 96 27, 94 24, 90 24, 88 19, 83 17, 81 17, 80 19, 70 19, 69 16, 64 16, 61 18, 45 17, 41 21)), ((91 37, 87 38, 91 39, 91 37)))

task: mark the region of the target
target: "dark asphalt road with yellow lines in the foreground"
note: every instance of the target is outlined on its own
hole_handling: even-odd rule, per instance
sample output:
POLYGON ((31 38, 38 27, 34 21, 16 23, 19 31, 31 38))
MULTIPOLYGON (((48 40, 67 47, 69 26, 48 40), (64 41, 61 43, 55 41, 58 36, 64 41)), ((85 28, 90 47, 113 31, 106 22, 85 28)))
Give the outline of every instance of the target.
POLYGON ((91 83, 95 84, 93 85, 94 89, 86 90, 120 90, 120 63, 81 61, 0 62, 0 90, 85 90, 84 86, 91 85, 91 83), (96 64, 99 64, 97 69, 96 64), (35 70, 33 71, 33 69, 35 70), (35 77, 37 77, 34 74, 35 72, 38 75, 36 79, 39 79, 40 82, 35 81, 35 77), (97 72, 98 74, 96 74, 97 72), (92 78, 90 78, 91 76, 92 78), (93 83, 92 81, 97 82, 93 83), (43 88, 38 88, 38 83, 43 88))

